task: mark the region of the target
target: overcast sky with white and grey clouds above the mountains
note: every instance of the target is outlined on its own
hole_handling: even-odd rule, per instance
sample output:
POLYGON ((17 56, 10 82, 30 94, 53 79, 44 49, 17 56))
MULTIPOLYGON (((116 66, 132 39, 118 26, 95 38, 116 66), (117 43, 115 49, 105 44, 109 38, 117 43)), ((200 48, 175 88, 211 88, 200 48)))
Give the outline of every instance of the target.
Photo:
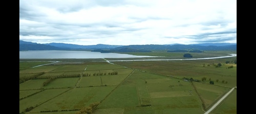
POLYGON ((78 45, 237 43, 237 1, 20 0, 19 40, 78 45))

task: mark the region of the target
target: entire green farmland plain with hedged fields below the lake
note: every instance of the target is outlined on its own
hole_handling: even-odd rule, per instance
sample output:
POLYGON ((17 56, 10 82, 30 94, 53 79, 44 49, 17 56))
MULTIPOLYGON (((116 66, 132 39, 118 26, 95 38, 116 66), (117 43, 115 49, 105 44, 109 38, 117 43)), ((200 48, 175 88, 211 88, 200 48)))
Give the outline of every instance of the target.
MULTIPOLYGON (((207 58, 225 53, 205 52, 195 56, 207 58)), ((165 55, 173 59, 180 53, 165 55)), ((19 65, 19 112, 74 114, 82 107, 100 102, 93 113, 204 113, 237 86, 234 60, 236 57, 113 64, 103 59, 61 60, 40 67, 34 66, 51 62, 27 60, 19 65), (216 67, 219 63, 222 66, 216 67), (228 68, 231 65, 233 67, 228 68), (191 78, 200 81, 189 81, 191 78), (48 83, 44 85, 45 82, 48 83)), ((234 90, 212 113, 237 113, 236 99, 234 90)))

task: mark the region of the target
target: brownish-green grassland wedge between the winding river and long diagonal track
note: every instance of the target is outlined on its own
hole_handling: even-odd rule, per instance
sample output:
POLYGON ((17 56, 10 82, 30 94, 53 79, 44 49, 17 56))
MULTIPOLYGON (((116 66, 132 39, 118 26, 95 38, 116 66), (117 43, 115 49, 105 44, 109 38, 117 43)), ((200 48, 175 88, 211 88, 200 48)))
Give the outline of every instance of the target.
POLYGON ((212 60, 191 60, 191 61, 136 61, 136 62, 112 62, 114 64, 162 74, 166 76, 174 76, 178 78, 193 78, 202 80, 206 77, 205 83, 209 83, 209 79, 215 81, 220 86, 234 87, 237 85, 237 65, 226 64, 226 61, 234 61, 236 57, 212 60), (221 63, 222 66, 216 68, 213 64, 221 63), (203 64, 205 66, 203 66, 203 64), (209 66, 207 66, 209 65, 209 66), (233 68, 228 69, 228 66, 233 68), (219 80, 218 82, 216 80, 219 80), (222 83, 222 80, 227 83, 222 83))

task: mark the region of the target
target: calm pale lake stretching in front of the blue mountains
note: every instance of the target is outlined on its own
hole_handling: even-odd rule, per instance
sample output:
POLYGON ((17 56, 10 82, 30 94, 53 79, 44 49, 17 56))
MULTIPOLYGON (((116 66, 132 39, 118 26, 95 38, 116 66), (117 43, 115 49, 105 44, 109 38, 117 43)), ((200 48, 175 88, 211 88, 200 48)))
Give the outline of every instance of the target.
POLYGON ((100 53, 91 51, 66 50, 31 50, 19 51, 19 59, 98 59, 98 58, 144 58, 154 56, 137 56, 119 53, 100 53))

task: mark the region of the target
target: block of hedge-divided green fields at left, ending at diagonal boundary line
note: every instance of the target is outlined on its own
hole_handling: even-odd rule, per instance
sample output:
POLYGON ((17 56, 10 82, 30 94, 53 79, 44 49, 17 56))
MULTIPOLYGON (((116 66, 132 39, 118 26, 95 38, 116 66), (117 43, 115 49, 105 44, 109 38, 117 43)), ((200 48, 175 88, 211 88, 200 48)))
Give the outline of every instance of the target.
MULTIPOLYGON (((25 63, 30 64, 30 62, 24 62, 25 66, 25 63)), ((74 110, 102 101, 132 72, 132 69, 104 63, 27 67, 27 69, 20 70, 21 77, 40 75, 19 84, 19 111, 24 113, 27 108, 33 107, 26 113, 40 113, 41 111, 75 113, 74 110), (109 74, 111 72, 117 72, 117 74, 109 74), (98 74, 93 75, 94 73, 98 74), (72 76, 77 74, 78 77, 72 76), (91 74, 91 76, 86 74, 91 74), (57 78, 44 86, 43 83, 52 77, 57 78), (31 100, 33 102, 30 102, 31 100), (58 112, 52 110, 58 110, 58 112)))

